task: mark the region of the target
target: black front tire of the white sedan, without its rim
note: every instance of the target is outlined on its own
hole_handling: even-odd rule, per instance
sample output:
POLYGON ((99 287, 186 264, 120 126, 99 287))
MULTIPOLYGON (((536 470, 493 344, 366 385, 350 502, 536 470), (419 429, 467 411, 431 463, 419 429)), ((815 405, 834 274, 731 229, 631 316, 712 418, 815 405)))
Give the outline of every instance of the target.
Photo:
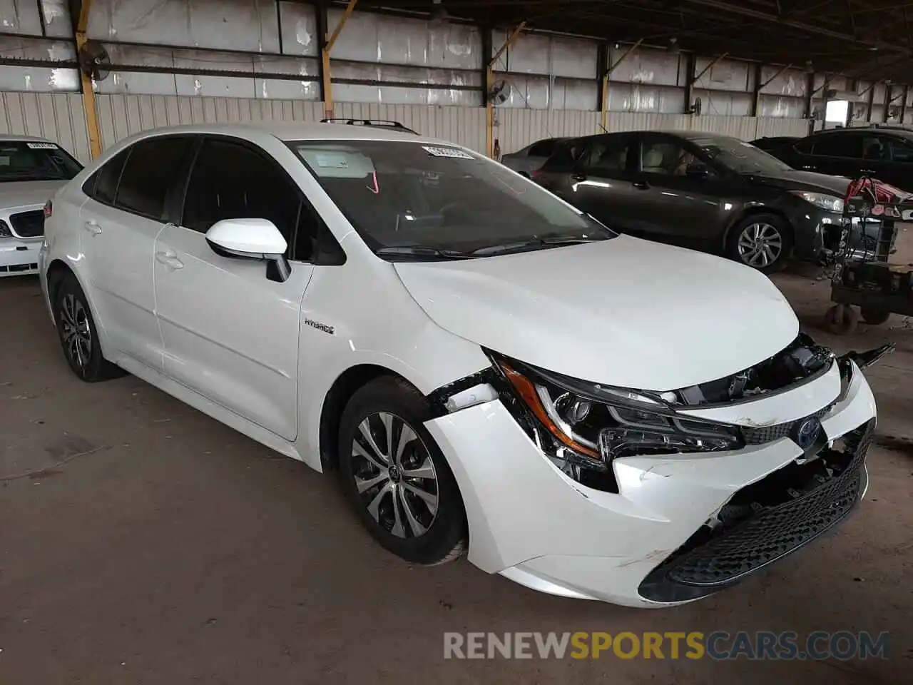
POLYGON ((373 538, 389 552, 414 564, 436 564, 466 537, 466 513, 453 472, 434 437, 424 426, 429 416, 425 398, 397 379, 384 376, 352 395, 342 413, 339 436, 339 476, 346 498, 373 538), (374 521, 359 494, 353 475, 352 439, 365 416, 389 412, 404 419, 425 443, 437 476, 437 512, 434 522, 418 538, 400 538, 374 521))

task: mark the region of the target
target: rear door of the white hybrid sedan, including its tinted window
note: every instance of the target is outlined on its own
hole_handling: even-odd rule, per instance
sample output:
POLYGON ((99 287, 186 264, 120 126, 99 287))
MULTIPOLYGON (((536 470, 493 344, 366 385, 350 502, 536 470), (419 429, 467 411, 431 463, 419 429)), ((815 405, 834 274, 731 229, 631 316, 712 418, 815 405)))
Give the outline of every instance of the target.
POLYGON ((127 355, 163 369, 162 336, 155 321, 152 259, 165 222, 173 179, 191 152, 182 136, 137 142, 105 163, 86 187, 80 209, 92 303, 110 358, 127 355))

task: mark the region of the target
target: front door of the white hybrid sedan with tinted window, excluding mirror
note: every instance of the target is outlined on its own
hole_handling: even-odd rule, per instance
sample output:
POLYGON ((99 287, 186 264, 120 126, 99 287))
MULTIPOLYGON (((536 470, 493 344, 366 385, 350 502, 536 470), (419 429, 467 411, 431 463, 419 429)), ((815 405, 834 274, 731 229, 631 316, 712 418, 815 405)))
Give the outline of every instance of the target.
POLYGON ((299 319, 314 270, 308 209, 267 153, 207 138, 181 225, 164 227, 154 250, 165 374, 287 440, 297 437, 299 319), (289 243, 289 279, 267 279, 262 261, 216 255, 205 231, 226 218, 272 221, 289 243))

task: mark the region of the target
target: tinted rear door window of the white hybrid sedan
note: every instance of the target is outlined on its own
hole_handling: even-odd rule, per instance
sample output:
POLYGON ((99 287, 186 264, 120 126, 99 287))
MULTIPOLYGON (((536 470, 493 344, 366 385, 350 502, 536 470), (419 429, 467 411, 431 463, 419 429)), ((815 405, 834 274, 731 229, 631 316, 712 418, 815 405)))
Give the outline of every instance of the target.
POLYGON ((176 136, 132 145, 114 205, 128 212, 162 219, 165 198, 192 145, 192 139, 176 136))

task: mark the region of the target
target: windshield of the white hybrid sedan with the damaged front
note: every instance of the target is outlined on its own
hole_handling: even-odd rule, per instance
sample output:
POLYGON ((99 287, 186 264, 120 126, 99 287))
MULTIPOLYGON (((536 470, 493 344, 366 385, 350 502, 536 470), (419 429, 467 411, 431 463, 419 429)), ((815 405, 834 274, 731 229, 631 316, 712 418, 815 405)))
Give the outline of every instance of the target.
POLYGON ((449 145, 289 143, 383 258, 467 258, 614 237, 498 163, 449 145))

